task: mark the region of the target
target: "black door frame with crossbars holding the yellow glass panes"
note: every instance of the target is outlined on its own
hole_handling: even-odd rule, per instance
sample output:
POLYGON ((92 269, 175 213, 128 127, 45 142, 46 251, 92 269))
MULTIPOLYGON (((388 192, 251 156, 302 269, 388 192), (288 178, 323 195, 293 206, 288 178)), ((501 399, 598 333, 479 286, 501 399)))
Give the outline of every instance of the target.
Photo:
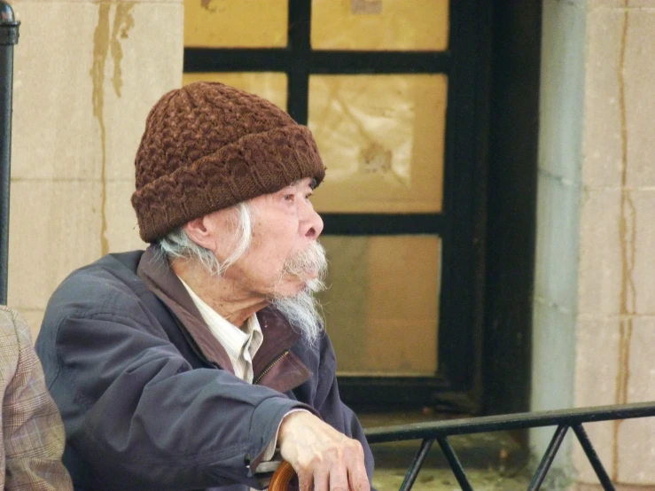
POLYGON ((186 73, 285 72, 287 110, 300 124, 308 120, 310 74, 448 76, 442 212, 322 214, 324 234, 437 234, 442 241, 437 373, 339 377, 342 398, 357 408, 480 408, 491 2, 450 0, 449 17, 447 51, 313 51, 311 0, 289 0, 285 48, 184 50, 186 73))

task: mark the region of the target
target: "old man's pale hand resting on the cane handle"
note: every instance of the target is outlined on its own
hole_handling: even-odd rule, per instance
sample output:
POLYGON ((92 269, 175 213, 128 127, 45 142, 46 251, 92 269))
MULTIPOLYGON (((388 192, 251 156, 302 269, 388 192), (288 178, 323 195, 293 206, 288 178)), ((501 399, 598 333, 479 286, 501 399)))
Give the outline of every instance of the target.
POLYGON ((298 474, 300 491, 370 491, 359 441, 306 411, 282 420, 280 453, 298 474))

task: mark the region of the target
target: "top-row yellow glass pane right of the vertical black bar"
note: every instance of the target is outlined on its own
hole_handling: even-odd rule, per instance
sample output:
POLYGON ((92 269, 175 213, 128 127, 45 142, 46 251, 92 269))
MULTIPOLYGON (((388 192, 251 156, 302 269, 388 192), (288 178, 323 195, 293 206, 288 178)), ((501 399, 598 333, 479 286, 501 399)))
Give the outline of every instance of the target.
POLYGON ((448 0, 312 0, 315 50, 448 48, 448 0))

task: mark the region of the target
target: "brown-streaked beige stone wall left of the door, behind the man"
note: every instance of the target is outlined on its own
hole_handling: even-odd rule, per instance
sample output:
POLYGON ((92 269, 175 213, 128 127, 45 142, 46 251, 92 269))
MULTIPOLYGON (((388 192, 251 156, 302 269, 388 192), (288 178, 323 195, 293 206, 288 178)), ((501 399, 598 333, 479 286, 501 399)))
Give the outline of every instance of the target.
POLYGON ((15 0, 8 303, 38 331, 51 292, 141 246, 129 203, 145 117, 178 87, 182 0, 15 0))

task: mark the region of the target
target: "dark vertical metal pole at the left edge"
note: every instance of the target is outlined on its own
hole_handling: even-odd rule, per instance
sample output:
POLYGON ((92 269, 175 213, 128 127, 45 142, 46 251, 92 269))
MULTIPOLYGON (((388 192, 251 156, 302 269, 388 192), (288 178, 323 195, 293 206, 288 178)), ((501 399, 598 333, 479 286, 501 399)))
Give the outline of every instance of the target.
POLYGON ((7 303, 9 268, 9 184, 12 159, 13 45, 19 22, 0 0, 0 304, 7 303))

